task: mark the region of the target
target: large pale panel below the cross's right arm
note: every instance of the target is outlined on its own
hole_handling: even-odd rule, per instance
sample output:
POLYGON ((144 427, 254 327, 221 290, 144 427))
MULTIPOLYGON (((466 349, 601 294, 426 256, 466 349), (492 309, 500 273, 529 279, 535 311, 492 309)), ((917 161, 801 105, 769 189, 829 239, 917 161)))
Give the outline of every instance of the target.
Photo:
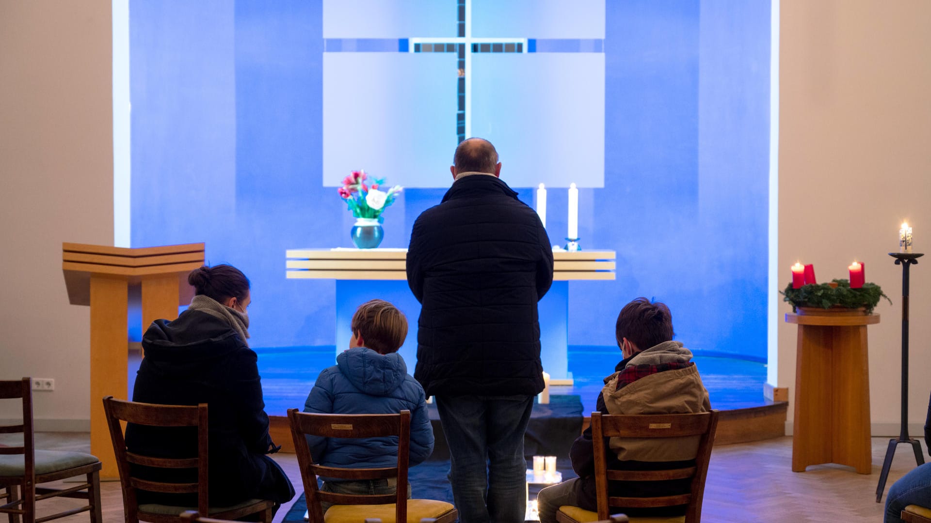
POLYGON ((603 187, 604 54, 474 55, 472 135, 512 187, 603 187))

